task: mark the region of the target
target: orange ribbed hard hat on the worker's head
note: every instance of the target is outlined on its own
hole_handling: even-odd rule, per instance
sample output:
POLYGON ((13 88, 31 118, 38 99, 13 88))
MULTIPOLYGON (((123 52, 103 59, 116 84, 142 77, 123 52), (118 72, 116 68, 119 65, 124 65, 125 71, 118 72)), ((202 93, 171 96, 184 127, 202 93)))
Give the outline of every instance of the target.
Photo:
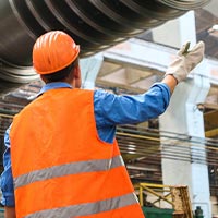
POLYGON ((50 74, 70 65, 78 56, 80 46, 61 31, 41 35, 33 48, 33 66, 38 74, 50 74))

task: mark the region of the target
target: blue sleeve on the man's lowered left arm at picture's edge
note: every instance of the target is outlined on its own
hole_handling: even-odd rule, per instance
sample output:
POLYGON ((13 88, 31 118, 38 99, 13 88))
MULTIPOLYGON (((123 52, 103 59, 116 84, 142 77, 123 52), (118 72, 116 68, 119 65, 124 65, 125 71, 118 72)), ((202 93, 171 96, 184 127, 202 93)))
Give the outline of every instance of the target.
POLYGON ((14 206, 14 186, 13 186, 13 178, 11 172, 11 153, 10 153, 10 140, 9 140, 9 131, 7 130, 4 134, 4 145, 7 147, 3 154, 3 172, 0 178, 0 185, 2 192, 1 204, 4 206, 14 206))

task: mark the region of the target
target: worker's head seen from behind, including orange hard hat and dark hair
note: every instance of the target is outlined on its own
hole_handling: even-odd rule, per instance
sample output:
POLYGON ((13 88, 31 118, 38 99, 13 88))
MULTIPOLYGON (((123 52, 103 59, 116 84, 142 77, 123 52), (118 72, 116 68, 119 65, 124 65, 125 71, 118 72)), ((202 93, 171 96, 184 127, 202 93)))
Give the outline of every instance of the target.
MULTIPOLYGON (((65 81, 69 76, 81 80, 78 53, 80 47, 71 36, 61 31, 51 31, 36 40, 33 66, 46 83, 65 81)), ((73 85, 77 87, 81 84, 73 85)))

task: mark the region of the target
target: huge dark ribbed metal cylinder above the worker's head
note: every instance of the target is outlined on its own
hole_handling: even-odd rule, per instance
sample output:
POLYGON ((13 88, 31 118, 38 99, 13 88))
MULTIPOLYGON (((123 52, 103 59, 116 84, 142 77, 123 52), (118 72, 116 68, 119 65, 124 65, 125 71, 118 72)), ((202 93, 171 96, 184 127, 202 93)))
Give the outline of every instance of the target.
POLYGON ((50 29, 69 33, 92 56, 197 9, 209 0, 1 0, 0 94, 36 78, 32 47, 50 29))

